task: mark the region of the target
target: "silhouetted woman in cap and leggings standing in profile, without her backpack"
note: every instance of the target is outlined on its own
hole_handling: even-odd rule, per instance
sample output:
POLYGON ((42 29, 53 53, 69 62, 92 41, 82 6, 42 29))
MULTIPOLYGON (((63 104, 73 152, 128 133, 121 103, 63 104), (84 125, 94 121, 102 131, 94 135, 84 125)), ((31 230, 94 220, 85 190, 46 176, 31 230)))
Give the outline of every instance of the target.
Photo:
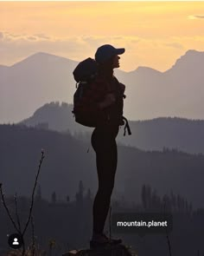
POLYGON ((118 82, 113 75, 113 69, 119 68, 118 55, 124 53, 124 48, 115 49, 110 44, 99 47, 95 53, 98 63, 98 77, 94 86, 103 100, 98 103, 101 111, 99 123, 92 132, 92 148, 96 153, 96 165, 99 179, 99 189, 93 201, 93 228, 90 246, 119 244, 122 240, 108 239, 104 233, 105 220, 109 211, 112 189, 117 169, 118 152, 116 137, 118 128, 124 125, 123 99, 124 84, 118 82))

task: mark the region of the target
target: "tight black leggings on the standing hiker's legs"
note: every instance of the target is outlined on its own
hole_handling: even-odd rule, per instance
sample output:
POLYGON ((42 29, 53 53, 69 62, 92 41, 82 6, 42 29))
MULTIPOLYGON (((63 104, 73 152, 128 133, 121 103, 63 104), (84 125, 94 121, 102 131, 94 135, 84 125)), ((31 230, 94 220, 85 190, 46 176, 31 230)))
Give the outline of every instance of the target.
POLYGON ((99 180, 99 189, 92 207, 93 233, 103 233, 110 207, 118 161, 117 135, 118 127, 113 130, 95 128, 92 132, 92 148, 96 152, 99 180))

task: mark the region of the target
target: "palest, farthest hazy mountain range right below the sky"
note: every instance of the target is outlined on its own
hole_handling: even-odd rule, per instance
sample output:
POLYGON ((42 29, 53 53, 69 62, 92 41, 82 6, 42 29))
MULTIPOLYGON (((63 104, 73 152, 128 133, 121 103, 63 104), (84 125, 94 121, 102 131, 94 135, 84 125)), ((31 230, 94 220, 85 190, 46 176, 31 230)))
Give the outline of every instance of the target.
MULTIPOLYGON (((46 102, 73 102, 73 69, 78 62, 46 53, 11 67, 0 66, 0 122, 21 121, 46 102)), ((116 69, 126 85, 124 115, 131 120, 159 116, 204 119, 204 52, 188 50, 171 69, 116 69)))

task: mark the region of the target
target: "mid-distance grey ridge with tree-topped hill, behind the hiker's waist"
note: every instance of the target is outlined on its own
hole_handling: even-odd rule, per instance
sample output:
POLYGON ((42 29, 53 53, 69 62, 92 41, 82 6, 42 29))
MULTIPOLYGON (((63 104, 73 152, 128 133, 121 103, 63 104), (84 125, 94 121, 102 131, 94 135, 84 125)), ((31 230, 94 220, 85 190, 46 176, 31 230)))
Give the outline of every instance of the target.
MULTIPOLYGON (((45 128, 60 132, 68 130, 73 135, 90 141, 92 128, 76 123, 72 110, 73 105, 66 102, 50 102, 38 108, 34 115, 22 123, 41 128, 44 125, 45 128)), ((176 148, 191 154, 204 154, 204 120, 160 117, 146 121, 130 121, 130 126, 132 135, 124 137, 122 127, 118 142, 143 150, 163 151, 163 148, 176 148)))

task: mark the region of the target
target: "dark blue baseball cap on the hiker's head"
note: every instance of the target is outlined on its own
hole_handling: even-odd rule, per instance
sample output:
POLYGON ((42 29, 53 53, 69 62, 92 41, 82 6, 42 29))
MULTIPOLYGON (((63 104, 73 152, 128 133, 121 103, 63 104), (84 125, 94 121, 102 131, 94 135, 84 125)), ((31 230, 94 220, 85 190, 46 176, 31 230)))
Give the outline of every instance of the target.
POLYGON ((103 63, 112 56, 121 55, 125 51, 124 48, 115 48, 111 44, 104 44, 100 46, 95 53, 96 62, 103 63))

